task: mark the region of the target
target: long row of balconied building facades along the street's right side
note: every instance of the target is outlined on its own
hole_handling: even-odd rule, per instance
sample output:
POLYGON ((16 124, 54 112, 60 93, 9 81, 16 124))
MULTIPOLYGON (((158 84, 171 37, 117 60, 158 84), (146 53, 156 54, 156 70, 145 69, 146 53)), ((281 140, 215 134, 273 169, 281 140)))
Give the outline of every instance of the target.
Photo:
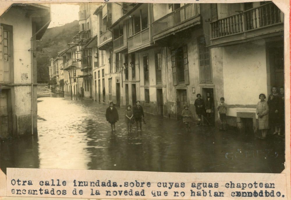
POLYGON ((284 85, 284 19, 272 2, 85 5, 84 97, 117 106, 140 100, 145 112, 171 118, 187 104, 197 118, 196 95, 210 93, 208 120, 219 122, 224 97, 228 124, 256 131, 258 94, 284 85))

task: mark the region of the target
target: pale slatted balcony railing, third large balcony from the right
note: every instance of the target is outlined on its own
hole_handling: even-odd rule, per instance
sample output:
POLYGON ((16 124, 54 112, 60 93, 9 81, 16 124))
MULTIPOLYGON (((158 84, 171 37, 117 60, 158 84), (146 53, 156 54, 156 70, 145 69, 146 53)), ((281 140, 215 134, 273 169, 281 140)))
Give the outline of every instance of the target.
POLYGON ((128 53, 134 52, 137 49, 150 46, 150 31, 145 28, 142 31, 130 36, 127 40, 128 53))

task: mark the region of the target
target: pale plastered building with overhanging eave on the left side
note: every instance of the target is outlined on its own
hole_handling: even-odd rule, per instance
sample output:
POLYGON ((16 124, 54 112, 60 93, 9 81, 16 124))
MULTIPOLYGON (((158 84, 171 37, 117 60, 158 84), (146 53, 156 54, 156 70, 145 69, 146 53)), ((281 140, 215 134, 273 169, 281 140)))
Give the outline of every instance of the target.
POLYGON ((50 7, 12 4, 0 17, 0 137, 37 134, 36 40, 50 7))

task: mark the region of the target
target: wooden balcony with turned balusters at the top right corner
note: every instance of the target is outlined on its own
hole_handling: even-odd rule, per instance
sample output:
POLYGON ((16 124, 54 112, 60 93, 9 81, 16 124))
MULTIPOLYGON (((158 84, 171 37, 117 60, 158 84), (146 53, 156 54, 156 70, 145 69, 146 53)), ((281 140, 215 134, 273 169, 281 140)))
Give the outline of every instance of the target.
POLYGON ((247 42, 283 34, 283 13, 274 3, 211 22, 211 46, 247 42))

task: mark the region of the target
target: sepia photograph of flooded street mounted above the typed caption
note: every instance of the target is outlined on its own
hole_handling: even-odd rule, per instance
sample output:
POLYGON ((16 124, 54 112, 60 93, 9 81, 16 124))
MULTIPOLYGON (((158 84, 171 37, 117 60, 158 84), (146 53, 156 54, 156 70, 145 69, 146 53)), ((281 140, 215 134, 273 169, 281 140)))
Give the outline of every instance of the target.
POLYGON ((0 13, 1 170, 281 173, 284 13, 197 2, 0 13))

